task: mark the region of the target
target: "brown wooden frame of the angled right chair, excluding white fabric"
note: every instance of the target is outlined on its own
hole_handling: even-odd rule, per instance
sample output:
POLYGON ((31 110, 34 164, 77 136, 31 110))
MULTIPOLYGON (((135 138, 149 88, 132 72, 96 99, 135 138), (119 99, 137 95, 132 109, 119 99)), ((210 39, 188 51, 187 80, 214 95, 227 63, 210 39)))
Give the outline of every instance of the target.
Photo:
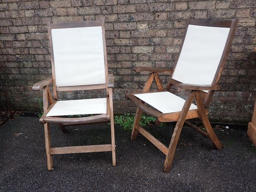
MULTIPOLYGON (((146 81, 145 86, 143 88, 143 93, 148 93, 153 80, 155 80, 158 91, 164 90, 163 84, 161 83, 158 73, 171 73, 169 82, 166 87, 167 90, 169 90, 169 91, 171 89, 175 89, 177 91, 190 90, 190 94, 186 98, 186 102, 183 105, 182 111, 175 112, 175 113, 160 113, 160 112, 155 111, 152 108, 149 108, 146 105, 144 105, 144 102, 141 101, 140 99, 138 99, 136 96, 134 96, 134 93, 128 93, 125 95, 125 97, 127 99, 129 99, 131 102, 133 102, 137 106, 137 111, 136 111, 133 129, 132 129, 131 139, 136 140, 137 134, 140 132, 140 134, 142 134, 151 143, 153 143, 157 148, 159 148, 160 151, 162 151, 166 155, 166 160, 165 160, 164 168, 163 168, 163 171, 165 173, 168 173, 171 170, 172 161, 173 161, 173 157, 175 154, 177 142, 180 137, 180 132, 183 128, 184 122, 186 122, 189 126, 194 128, 195 130, 199 131, 199 133, 203 134, 205 137, 208 137, 212 141, 212 143, 216 146, 216 148, 218 148, 218 149, 223 148, 221 142, 219 142, 219 140, 218 140, 217 136, 215 135, 215 133, 212 129, 212 126, 209 122, 209 119, 207 117, 207 113, 208 113, 207 108, 209 107, 209 103, 212 100, 214 91, 220 89, 220 86, 217 83, 220 79, 222 70, 224 68, 224 64, 226 62, 228 53, 230 51, 230 48, 232 45, 232 40, 233 40, 235 32, 236 32, 237 23, 238 23, 237 19, 223 21, 223 20, 206 20, 206 19, 202 20, 202 19, 189 18, 187 20, 185 35, 183 37, 183 42, 180 47, 180 52, 183 47, 184 39, 186 37, 186 32, 187 32, 189 24, 201 25, 201 26, 230 27, 230 32, 229 32, 229 35, 227 38, 227 42, 224 47, 224 52, 222 54, 221 60, 218 65, 218 70, 215 73, 215 77, 212 81, 212 84, 209 84, 209 85, 183 84, 179 81, 176 81, 175 79, 172 79, 172 74, 173 74, 172 72, 175 70, 178 59, 176 61, 175 67, 173 69, 151 68, 151 67, 136 67, 136 68, 134 68, 135 72, 140 72, 140 71, 151 72, 148 77, 148 80, 146 81), (203 90, 208 90, 208 93, 204 92, 203 90), (194 99, 195 99, 198 109, 197 110, 189 110, 194 99), (161 143, 159 140, 157 140, 150 133, 148 133, 148 131, 146 131, 144 128, 142 128, 139 125, 140 118, 141 118, 141 115, 143 112, 145 112, 151 116, 157 117, 157 119, 160 122, 177 121, 177 123, 175 125, 174 132, 172 134, 172 139, 171 139, 169 148, 167 148, 165 145, 163 145, 163 143, 161 143), (206 131, 202 131, 197 126, 186 121, 186 119, 192 119, 192 118, 196 118, 196 117, 200 117, 206 131)), ((180 52, 179 52, 178 58, 180 56, 180 52)))

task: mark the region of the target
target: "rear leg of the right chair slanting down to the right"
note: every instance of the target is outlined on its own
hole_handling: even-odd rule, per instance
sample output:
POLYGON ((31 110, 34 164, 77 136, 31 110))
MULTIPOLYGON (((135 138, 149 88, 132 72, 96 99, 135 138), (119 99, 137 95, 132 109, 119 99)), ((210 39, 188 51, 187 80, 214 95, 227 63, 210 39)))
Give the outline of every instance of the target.
POLYGON ((212 129, 212 125, 210 124, 209 119, 207 117, 207 114, 206 114, 206 111, 204 108, 204 103, 201 99, 199 91, 197 91, 197 93, 196 93, 196 104, 198 107, 198 113, 199 113, 200 119, 201 119, 207 133, 209 134, 209 139, 212 140, 212 143, 216 146, 216 148, 218 148, 218 150, 220 150, 221 148, 223 148, 223 145, 218 140, 218 137, 216 136, 216 134, 214 133, 214 131, 212 129))

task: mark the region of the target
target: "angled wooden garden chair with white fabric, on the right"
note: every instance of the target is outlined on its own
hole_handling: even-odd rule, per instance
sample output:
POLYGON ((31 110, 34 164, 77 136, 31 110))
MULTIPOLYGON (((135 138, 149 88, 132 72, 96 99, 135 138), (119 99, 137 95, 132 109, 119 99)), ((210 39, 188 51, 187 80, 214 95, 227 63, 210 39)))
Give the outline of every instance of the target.
POLYGON ((207 108, 214 91, 220 89, 218 81, 230 51, 237 23, 237 19, 206 20, 189 18, 173 70, 151 67, 134 68, 135 72, 148 71, 151 73, 145 83, 143 93, 125 95, 137 107, 131 139, 136 140, 137 134, 140 132, 166 154, 163 168, 166 173, 171 170, 175 149, 184 122, 208 137, 216 148, 221 149, 223 147, 208 120, 207 108), (171 73, 166 90, 163 88, 158 73, 171 73), (158 91, 148 93, 153 80, 156 82, 158 91), (184 100, 171 93, 172 89, 177 91, 189 90, 190 93, 184 100), (196 105, 192 104, 194 99, 196 105), (145 103, 151 107, 148 107, 145 103), (160 122, 177 121, 169 148, 139 125, 143 112, 157 117, 160 122), (200 117, 206 131, 202 131, 186 121, 186 119, 197 117, 200 117))

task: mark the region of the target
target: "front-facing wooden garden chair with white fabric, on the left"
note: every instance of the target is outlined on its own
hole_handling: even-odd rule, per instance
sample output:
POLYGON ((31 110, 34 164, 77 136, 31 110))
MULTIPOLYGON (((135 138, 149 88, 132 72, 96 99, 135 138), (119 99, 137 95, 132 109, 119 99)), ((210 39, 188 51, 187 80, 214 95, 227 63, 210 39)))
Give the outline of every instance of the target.
POLYGON ((52 61, 52 77, 33 85, 43 89, 45 146, 48 170, 52 170, 53 154, 112 151, 116 165, 113 122, 113 74, 108 74, 104 21, 48 23, 52 61), (49 85, 52 83, 53 98, 49 85), (58 101, 58 92, 106 90, 105 98, 58 101), (90 116, 89 114, 93 114, 90 116), (69 115, 88 115, 69 118, 69 115), (111 122, 111 144, 51 147, 49 123, 67 125, 111 122))

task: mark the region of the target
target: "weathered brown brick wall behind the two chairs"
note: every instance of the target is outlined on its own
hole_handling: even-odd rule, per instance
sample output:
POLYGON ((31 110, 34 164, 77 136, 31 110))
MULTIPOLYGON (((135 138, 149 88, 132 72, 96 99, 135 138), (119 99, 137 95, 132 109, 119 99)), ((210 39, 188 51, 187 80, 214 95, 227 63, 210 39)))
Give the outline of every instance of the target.
MULTIPOLYGON (((186 18, 239 18, 222 90, 215 93, 210 118, 248 122, 256 97, 255 0, 0 0, 0 74, 12 105, 38 111, 36 81, 50 76, 47 21, 53 23, 105 18, 109 71, 115 74, 114 110, 134 112, 124 94, 141 90, 147 73, 135 66, 173 67, 186 18)), ((162 77, 166 84, 168 76, 162 77)), ((67 95, 99 96, 84 91, 67 95)))

